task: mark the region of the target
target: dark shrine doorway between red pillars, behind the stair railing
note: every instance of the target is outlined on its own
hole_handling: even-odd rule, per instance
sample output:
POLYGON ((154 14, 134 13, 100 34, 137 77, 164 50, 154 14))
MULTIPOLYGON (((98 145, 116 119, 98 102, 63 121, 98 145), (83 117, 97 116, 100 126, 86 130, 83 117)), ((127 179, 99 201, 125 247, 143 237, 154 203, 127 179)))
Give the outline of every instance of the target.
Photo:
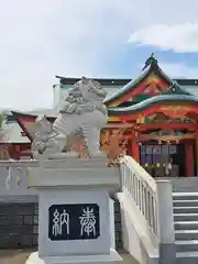
POLYGON ((153 177, 186 177, 185 144, 140 145, 140 163, 153 177))

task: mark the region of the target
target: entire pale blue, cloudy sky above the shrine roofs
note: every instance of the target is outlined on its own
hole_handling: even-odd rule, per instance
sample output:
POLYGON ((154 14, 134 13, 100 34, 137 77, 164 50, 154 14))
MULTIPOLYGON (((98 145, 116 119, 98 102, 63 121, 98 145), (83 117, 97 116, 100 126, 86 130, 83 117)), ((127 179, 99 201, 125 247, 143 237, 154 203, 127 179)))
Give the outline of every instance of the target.
POLYGON ((154 52, 198 78, 198 1, 0 0, 0 108, 53 102, 55 75, 133 78, 154 52))

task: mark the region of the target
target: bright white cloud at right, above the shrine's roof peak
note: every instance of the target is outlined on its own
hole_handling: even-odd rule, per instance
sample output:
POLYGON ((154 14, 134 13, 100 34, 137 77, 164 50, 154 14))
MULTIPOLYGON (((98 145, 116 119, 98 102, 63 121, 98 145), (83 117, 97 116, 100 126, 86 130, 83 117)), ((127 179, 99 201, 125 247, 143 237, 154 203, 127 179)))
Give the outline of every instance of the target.
POLYGON ((198 23, 154 24, 134 32, 129 42, 174 52, 198 52, 198 23))

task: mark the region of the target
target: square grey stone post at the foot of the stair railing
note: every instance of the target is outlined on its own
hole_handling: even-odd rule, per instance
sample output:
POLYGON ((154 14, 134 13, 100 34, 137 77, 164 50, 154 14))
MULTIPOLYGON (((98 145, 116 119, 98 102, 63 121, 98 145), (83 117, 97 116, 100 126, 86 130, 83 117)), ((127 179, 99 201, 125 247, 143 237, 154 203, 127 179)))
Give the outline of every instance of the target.
POLYGON ((176 261, 176 249, 172 183, 157 180, 156 185, 160 264, 173 264, 176 261))

